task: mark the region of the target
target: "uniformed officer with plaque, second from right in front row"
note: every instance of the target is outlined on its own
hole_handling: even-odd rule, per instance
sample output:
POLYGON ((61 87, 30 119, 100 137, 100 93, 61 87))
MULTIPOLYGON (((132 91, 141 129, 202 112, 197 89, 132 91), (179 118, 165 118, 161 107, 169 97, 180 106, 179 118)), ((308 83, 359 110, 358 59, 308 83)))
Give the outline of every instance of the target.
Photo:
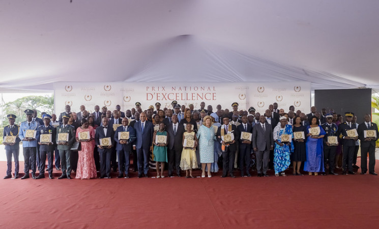
POLYGON ((338 126, 338 135, 342 138, 342 174, 355 174, 353 171, 353 159, 356 137, 347 136, 347 130, 356 129, 356 124, 352 123, 354 113, 345 112, 345 120, 338 126), (347 171, 348 170, 348 171, 347 171))

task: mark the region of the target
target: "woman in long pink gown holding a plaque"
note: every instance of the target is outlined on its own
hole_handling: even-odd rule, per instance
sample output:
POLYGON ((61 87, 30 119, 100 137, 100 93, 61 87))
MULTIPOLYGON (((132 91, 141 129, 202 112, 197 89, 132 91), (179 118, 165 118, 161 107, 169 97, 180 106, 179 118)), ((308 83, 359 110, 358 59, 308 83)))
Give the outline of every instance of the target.
POLYGON ((76 129, 76 140, 79 141, 79 134, 88 131, 89 140, 81 140, 81 151, 78 151, 78 167, 76 169, 76 179, 97 178, 96 165, 94 160, 95 130, 86 119, 81 120, 81 127, 76 129))

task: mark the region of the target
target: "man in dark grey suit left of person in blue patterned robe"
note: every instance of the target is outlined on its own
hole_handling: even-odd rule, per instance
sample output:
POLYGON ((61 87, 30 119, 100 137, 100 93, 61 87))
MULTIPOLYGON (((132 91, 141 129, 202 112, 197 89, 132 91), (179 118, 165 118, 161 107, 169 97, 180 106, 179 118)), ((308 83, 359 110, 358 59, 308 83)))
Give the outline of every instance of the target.
POLYGON ((253 127, 253 149, 256 155, 258 177, 268 177, 267 169, 269 167, 270 150, 274 149, 274 137, 271 125, 266 122, 265 116, 259 116, 259 123, 253 127))

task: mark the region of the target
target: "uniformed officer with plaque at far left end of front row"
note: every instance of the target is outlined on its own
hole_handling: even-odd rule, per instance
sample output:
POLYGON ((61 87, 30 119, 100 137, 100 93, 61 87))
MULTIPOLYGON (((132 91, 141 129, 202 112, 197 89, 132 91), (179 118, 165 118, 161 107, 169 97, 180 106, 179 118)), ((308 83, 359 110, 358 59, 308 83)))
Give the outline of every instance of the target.
POLYGON ((7 155, 7 175, 4 179, 12 178, 12 155, 14 159, 14 178, 18 178, 18 155, 20 153, 20 138, 18 138, 19 126, 14 124, 15 119, 17 118, 15 115, 7 115, 9 125, 4 127, 3 136, 6 137, 16 136, 16 140, 14 143, 4 143, 5 145, 5 153, 7 155))

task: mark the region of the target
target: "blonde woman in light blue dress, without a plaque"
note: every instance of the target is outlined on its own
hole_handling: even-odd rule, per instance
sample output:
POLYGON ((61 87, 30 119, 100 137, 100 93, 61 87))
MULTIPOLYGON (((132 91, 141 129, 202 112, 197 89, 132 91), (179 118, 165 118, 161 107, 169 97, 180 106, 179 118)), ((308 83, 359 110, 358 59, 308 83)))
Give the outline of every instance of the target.
MULTIPOLYGON (((211 164, 215 162, 214 141, 216 140, 216 135, 212 126, 212 117, 206 116, 203 120, 204 123, 197 131, 196 137, 199 139, 201 177, 206 177, 206 166, 210 168, 211 164)), ((208 169, 208 177, 212 177, 210 169, 208 169)))

